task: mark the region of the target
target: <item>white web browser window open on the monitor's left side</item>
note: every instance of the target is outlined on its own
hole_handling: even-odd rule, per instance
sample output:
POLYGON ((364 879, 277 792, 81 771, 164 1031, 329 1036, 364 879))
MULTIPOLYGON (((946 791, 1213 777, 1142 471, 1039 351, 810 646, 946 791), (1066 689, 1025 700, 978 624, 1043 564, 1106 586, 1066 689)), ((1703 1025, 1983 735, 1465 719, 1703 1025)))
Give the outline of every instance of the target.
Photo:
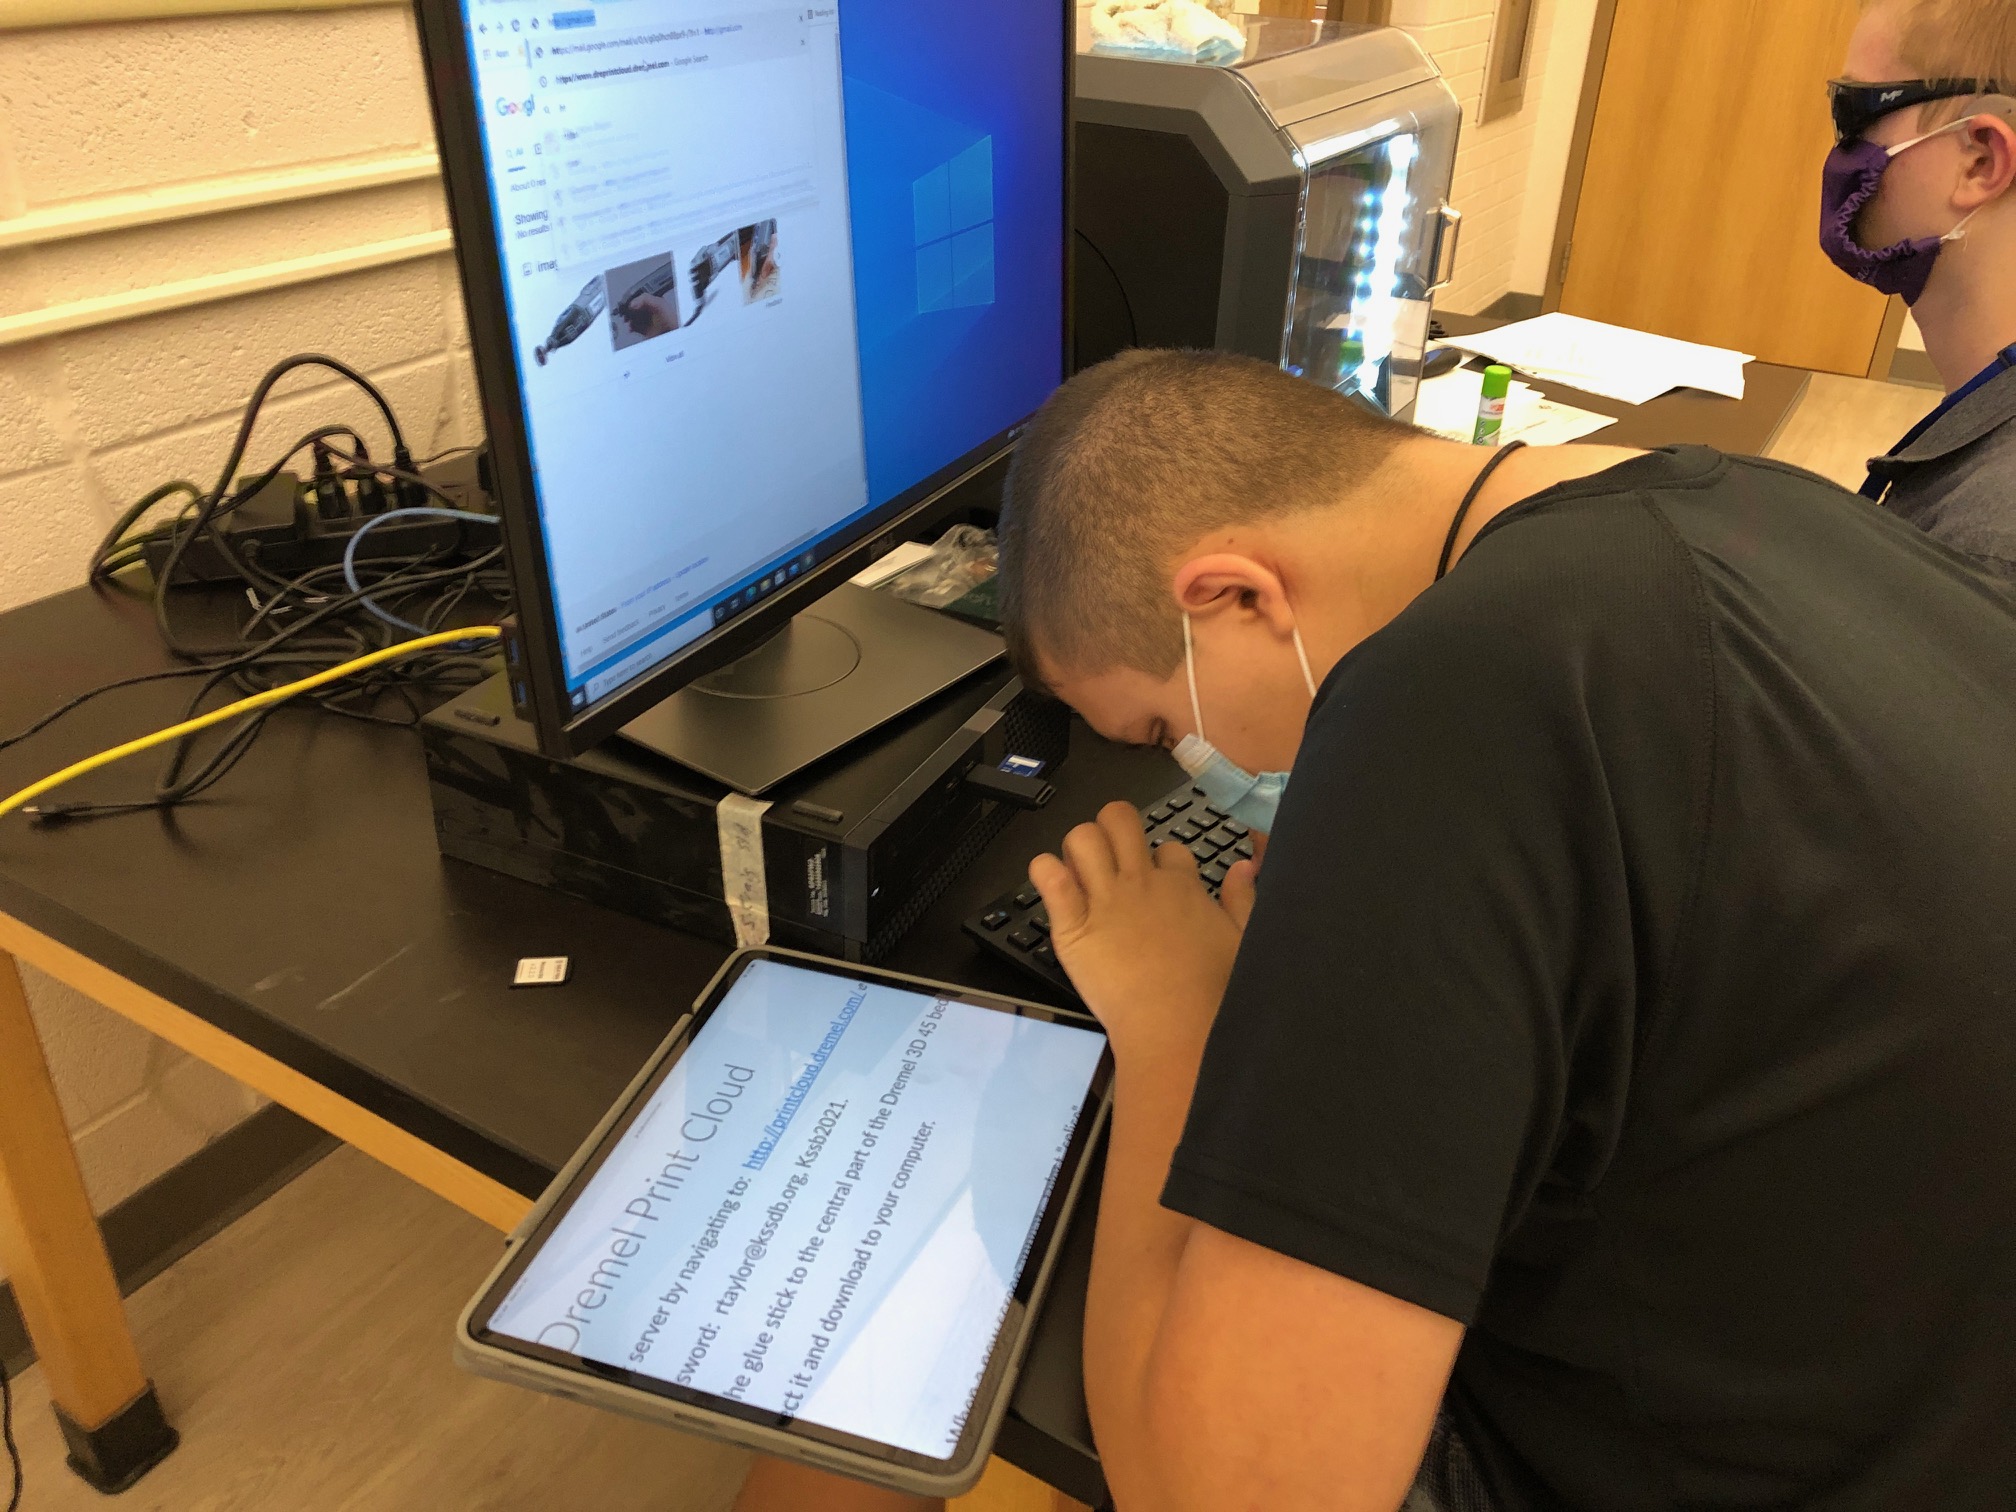
POLYGON ((593 702, 869 504, 839 12, 472 14, 566 677, 593 702))

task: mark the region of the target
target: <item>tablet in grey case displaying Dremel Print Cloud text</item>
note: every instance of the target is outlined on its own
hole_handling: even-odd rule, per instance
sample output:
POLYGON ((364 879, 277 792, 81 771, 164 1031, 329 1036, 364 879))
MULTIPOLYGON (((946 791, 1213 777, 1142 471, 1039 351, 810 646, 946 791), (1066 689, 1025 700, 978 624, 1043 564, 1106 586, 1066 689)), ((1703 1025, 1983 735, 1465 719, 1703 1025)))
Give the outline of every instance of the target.
POLYGON ((956 1496, 1111 1079, 1083 1014, 740 952, 512 1234, 456 1357, 956 1496))

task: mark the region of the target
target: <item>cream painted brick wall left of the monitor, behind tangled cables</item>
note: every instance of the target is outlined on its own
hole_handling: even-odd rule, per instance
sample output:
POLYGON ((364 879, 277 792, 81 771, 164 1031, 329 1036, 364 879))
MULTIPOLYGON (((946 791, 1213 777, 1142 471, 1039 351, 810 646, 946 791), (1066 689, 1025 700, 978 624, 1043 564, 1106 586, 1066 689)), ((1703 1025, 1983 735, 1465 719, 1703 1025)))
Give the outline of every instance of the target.
MULTIPOLYGON (((397 6, 0 32, 0 226, 91 196, 431 145, 397 6)), ((439 190, 405 183, 46 242, 0 252, 0 314, 446 224, 439 190)), ((480 433, 450 258, 0 347, 0 609, 83 583, 91 546, 155 482, 208 486, 248 389, 296 351, 369 371, 421 454, 480 433)), ((319 379, 288 381, 268 409, 254 458, 323 419, 383 435, 361 395, 319 379)), ((24 978, 99 1210, 258 1107, 81 994, 24 978)))

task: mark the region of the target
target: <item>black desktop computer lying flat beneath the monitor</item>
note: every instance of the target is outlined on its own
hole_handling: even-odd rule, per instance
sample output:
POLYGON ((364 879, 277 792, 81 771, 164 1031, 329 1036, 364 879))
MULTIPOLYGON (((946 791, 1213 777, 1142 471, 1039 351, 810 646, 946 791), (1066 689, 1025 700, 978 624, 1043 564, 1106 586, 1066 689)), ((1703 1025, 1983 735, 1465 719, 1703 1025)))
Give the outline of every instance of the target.
POLYGON ((730 946, 738 895, 766 943, 877 962, 1014 816, 984 778, 1054 772, 1070 712, 996 665, 764 800, 625 740, 542 754, 502 675, 419 734, 442 855, 730 946))

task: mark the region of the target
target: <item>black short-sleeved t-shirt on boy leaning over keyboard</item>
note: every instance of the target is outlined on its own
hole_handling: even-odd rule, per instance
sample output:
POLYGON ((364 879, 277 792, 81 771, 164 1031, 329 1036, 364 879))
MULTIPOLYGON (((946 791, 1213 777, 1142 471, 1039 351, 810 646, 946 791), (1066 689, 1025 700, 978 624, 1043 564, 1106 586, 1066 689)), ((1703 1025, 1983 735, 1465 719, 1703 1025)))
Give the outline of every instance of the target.
POLYGON ((1163 1200, 1470 1325, 1508 1506, 2016 1506, 2016 597, 1679 448, 1325 681, 1163 1200))

